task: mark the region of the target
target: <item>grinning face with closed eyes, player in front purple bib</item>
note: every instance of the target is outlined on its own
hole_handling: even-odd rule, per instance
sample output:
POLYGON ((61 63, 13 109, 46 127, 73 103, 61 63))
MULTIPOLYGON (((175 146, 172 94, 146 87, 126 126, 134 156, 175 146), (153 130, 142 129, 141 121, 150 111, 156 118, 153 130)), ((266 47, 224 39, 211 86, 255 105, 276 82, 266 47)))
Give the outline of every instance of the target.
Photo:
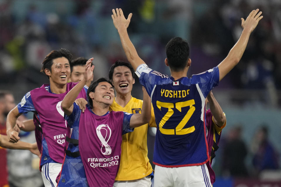
POLYGON ((108 82, 100 82, 95 92, 90 92, 89 96, 92 98, 93 106, 98 103, 110 106, 114 99, 114 89, 108 82))

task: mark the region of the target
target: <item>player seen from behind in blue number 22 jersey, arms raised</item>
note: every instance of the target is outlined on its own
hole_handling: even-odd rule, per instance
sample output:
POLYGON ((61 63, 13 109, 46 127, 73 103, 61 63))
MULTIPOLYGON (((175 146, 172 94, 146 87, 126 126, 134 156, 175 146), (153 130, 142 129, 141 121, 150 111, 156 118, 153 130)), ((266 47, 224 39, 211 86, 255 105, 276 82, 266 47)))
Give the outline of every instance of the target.
POLYGON ((153 71, 138 56, 129 39, 128 19, 121 8, 112 10, 113 23, 121 44, 143 85, 151 97, 157 131, 153 163, 155 187, 158 186, 211 186, 206 163, 209 162, 205 129, 205 98, 214 86, 237 65, 251 32, 263 18, 259 9, 248 18, 241 18, 243 31, 227 57, 217 66, 191 78, 186 77, 191 59, 189 45, 179 37, 166 45, 165 65, 171 77, 153 71))

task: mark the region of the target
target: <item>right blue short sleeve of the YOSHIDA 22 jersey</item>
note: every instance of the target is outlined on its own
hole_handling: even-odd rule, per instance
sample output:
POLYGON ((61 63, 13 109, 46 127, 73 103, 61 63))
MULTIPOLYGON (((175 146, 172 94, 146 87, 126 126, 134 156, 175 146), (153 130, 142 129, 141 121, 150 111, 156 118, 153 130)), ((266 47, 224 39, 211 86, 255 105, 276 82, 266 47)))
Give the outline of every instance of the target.
POLYGON ((214 67, 197 75, 192 75, 193 84, 198 83, 205 98, 208 96, 208 93, 219 84, 219 81, 220 73, 218 67, 214 67))

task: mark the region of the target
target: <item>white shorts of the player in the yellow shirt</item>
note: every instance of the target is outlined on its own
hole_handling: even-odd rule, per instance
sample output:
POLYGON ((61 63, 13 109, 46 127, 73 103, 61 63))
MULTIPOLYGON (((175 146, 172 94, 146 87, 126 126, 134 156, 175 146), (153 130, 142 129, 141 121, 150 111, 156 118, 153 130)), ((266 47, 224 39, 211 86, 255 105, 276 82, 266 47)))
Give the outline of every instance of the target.
POLYGON ((151 187, 151 176, 131 181, 115 181, 113 187, 151 187))

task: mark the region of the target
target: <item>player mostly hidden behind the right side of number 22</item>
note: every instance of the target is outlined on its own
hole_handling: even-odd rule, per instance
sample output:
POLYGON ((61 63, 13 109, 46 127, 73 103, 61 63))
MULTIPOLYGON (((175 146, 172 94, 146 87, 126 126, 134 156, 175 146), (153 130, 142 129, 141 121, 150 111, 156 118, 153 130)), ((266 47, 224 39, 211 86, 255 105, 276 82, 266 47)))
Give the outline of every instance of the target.
POLYGON ((210 91, 205 103, 209 102, 210 109, 206 111, 206 128, 207 128, 207 142, 208 151, 210 156, 210 162, 207 162, 207 168, 210 174, 210 181, 213 183, 216 180, 215 172, 213 171, 211 165, 213 158, 216 156, 215 151, 219 148, 218 144, 220 142, 220 136, 222 129, 226 125, 225 113, 222 111, 220 104, 215 99, 213 92, 210 91))

